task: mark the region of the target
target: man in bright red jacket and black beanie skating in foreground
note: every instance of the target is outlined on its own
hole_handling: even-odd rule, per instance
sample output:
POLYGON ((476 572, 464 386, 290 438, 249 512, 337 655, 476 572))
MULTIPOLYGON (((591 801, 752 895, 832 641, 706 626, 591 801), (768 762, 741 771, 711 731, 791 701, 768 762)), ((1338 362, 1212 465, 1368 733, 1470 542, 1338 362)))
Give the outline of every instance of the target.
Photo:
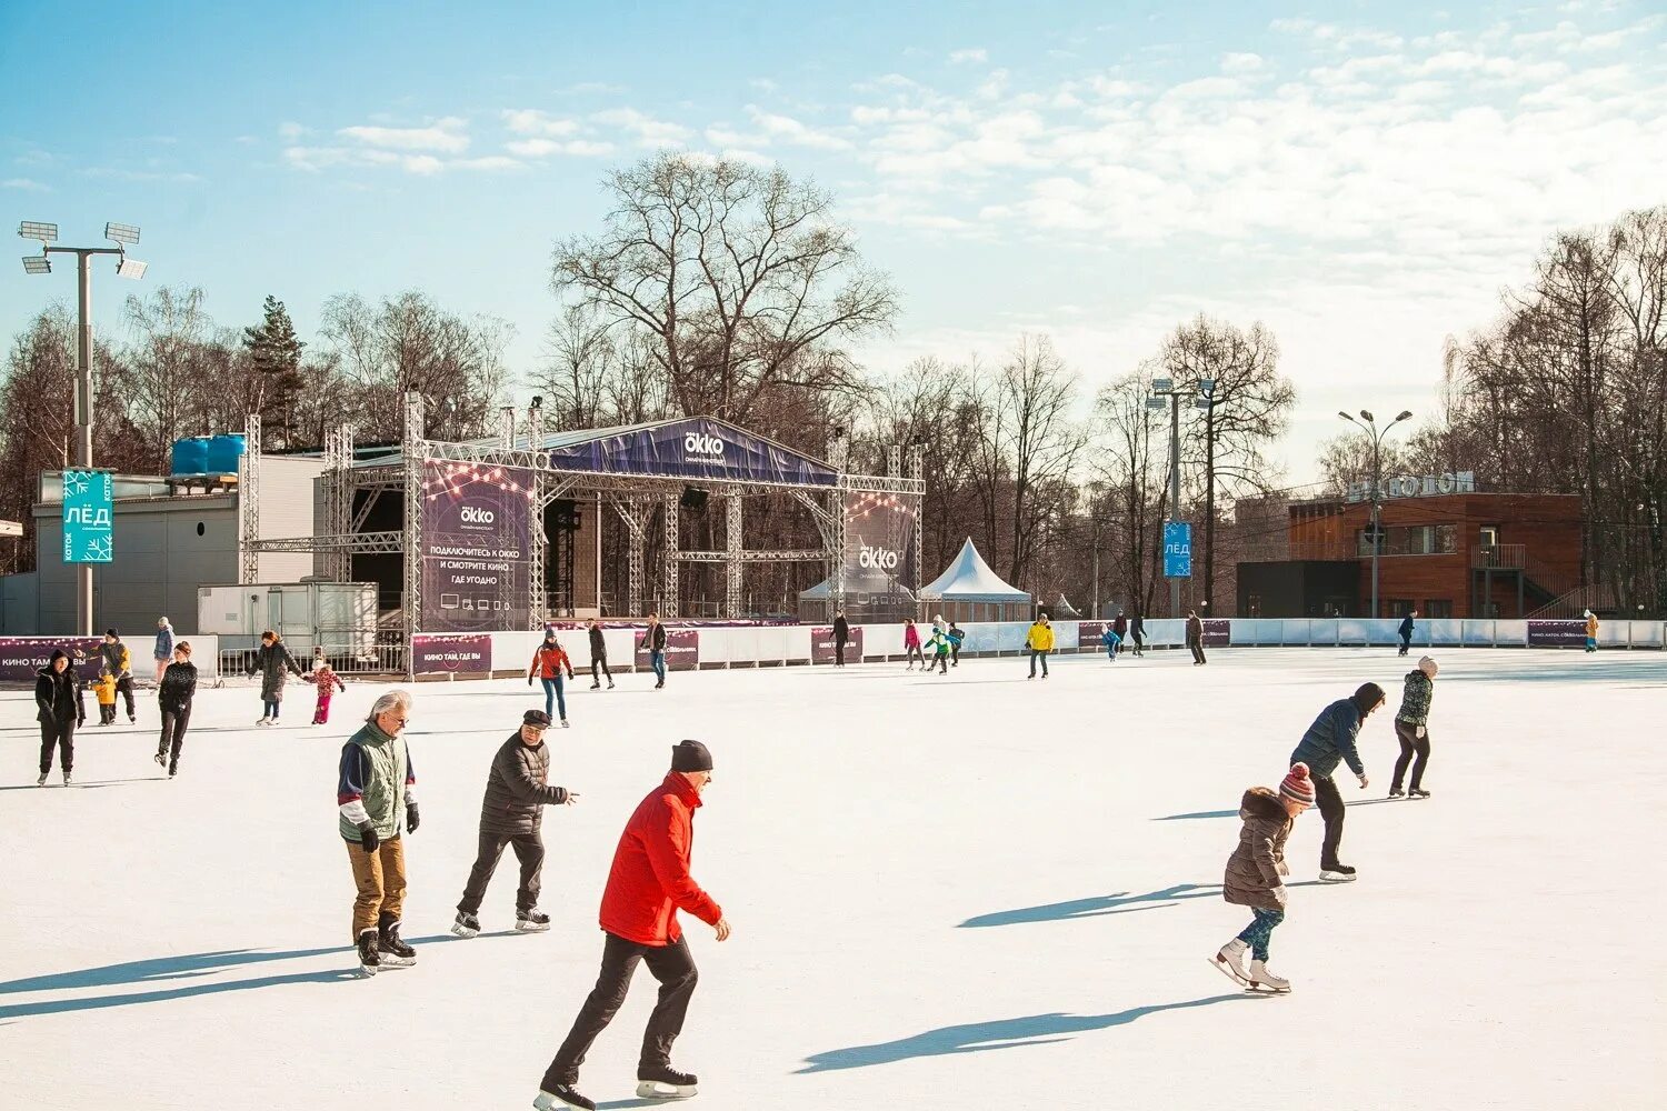
POLYGON ((660 981, 660 999, 648 1016, 637 1061, 640 1099, 677 1099, 695 1094, 695 1076, 672 1068, 672 1043, 683 1029, 688 998, 695 993, 695 959, 677 924, 683 909, 717 931, 730 934, 728 919, 712 896, 688 874, 695 810, 700 793, 712 783, 712 753, 700 741, 672 746, 672 771, 660 786, 637 805, 618 848, 608 886, 602 893, 602 974, 573 1021, 567 1041, 543 1074, 537 1111, 582 1108, 595 1111, 573 1084, 585 1053, 625 1003, 632 973, 642 961, 660 981))

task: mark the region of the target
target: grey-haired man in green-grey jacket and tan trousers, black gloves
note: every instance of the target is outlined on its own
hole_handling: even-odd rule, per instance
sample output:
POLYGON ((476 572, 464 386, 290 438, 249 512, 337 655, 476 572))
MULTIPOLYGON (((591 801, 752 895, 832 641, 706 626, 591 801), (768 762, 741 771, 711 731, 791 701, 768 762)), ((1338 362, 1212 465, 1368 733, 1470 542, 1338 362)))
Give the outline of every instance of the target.
POLYGON ((417 949, 400 938, 405 908, 405 839, 417 833, 417 775, 400 736, 410 723, 412 696, 388 691, 347 745, 337 775, 337 830, 353 869, 353 944, 367 976, 417 963, 417 949))

